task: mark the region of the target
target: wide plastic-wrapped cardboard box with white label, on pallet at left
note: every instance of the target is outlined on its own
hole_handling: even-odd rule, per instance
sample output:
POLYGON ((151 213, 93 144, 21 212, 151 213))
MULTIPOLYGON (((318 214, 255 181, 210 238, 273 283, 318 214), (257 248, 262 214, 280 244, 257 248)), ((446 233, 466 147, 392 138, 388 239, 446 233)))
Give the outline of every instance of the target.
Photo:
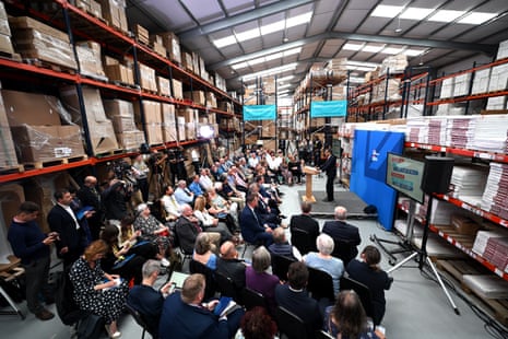
POLYGON ((20 163, 47 162, 85 154, 79 126, 13 126, 20 163))

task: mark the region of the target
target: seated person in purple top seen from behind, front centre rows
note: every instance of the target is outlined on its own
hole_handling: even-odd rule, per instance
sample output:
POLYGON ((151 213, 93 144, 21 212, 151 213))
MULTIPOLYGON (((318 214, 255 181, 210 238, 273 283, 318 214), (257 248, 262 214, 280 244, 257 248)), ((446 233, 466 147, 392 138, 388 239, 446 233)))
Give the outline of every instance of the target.
POLYGON ((261 293, 268 301, 271 311, 275 309, 275 287, 280 284, 279 278, 269 273, 272 260, 264 246, 252 252, 252 266, 245 270, 246 287, 261 293))

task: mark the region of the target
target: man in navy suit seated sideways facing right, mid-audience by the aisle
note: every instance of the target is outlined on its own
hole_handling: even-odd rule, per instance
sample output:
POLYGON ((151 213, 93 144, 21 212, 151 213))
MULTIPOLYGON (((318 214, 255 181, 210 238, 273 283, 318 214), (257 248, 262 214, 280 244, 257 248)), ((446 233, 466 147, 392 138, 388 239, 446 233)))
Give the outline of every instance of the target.
POLYGON ((268 224, 262 224, 261 217, 256 213, 258 199, 257 192, 247 196, 246 207, 240 214, 241 236, 246 242, 251 244, 260 242, 268 247, 273 243, 272 229, 268 224))

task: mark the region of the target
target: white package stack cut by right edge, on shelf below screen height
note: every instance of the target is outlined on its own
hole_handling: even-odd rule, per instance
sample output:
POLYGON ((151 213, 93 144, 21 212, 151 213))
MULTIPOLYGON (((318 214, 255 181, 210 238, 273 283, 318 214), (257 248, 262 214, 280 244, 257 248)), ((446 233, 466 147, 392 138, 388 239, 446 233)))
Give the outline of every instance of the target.
POLYGON ((482 209, 508 219, 508 164, 491 162, 482 209))

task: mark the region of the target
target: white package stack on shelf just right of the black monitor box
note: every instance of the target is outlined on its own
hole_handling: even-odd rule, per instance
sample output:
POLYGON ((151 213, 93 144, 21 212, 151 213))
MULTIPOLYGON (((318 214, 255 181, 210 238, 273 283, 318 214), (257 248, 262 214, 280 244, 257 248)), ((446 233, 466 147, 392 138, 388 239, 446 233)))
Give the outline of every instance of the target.
POLYGON ((482 167, 454 165, 450 180, 453 186, 451 196, 473 206, 479 206, 482 201, 487 176, 488 172, 482 170, 482 167))

